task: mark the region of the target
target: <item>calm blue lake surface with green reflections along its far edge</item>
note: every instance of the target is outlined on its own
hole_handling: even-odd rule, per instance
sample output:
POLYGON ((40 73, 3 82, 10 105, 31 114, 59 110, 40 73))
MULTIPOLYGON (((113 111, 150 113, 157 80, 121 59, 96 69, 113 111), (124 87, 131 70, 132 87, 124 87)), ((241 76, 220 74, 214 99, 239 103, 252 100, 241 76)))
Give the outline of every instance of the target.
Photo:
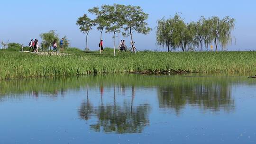
POLYGON ((247 75, 0 81, 0 144, 256 144, 247 75))

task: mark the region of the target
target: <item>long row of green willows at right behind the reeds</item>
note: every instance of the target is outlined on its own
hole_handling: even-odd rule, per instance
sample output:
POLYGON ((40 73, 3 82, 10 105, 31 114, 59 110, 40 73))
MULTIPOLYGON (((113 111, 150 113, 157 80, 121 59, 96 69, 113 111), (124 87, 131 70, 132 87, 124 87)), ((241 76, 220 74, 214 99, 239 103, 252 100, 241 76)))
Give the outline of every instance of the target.
POLYGON ((202 45, 207 47, 212 42, 222 48, 231 42, 231 32, 235 28, 235 19, 229 16, 220 19, 218 17, 204 18, 201 17, 197 22, 185 23, 183 18, 178 14, 174 18, 158 20, 156 31, 156 43, 175 50, 181 48, 182 51, 194 50, 202 45))

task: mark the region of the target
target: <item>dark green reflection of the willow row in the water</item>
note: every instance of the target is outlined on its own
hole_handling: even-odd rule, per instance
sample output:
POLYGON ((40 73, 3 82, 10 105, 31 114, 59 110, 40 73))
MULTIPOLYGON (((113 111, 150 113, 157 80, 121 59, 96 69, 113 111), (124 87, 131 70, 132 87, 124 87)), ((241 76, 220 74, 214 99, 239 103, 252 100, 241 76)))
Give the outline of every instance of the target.
POLYGON ((189 104, 202 109, 219 111, 234 110, 235 101, 231 97, 231 86, 226 83, 192 84, 158 88, 159 106, 163 109, 174 109, 179 115, 181 109, 189 104))

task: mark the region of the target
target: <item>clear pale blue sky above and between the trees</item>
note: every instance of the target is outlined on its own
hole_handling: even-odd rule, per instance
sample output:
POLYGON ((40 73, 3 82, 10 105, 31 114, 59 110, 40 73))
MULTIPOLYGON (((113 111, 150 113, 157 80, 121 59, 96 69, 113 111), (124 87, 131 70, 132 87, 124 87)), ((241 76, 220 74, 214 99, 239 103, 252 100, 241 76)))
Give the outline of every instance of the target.
MULTIPOLYGON (((1 0, 0 41, 27 45, 31 39, 40 41, 41 33, 56 30, 60 37, 68 37, 71 47, 84 49, 85 35, 76 25, 77 18, 90 8, 114 3, 140 6, 149 14, 150 34, 134 34, 138 50, 166 51, 156 45, 157 20, 174 17, 177 12, 182 13, 185 22, 197 21, 201 16, 235 18, 236 29, 227 50, 256 50, 256 0, 1 0)), ((113 47, 112 37, 110 33, 103 34, 104 47, 113 47)), ((130 42, 130 37, 119 35, 121 39, 130 42)), ((88 40, 89 48, 97 50, 100 32, 92 30, 88 40)))

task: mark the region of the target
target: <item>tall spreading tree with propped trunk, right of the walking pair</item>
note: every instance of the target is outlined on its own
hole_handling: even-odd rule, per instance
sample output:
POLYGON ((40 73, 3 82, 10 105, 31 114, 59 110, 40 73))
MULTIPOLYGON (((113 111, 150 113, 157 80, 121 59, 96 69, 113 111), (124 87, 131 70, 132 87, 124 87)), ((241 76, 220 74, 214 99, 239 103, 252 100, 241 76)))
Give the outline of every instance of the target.
POLYGON ((143 12, 139 6, 125 6, 123 9, 124 12, 124 20, 125 20, 125 27, 124 30, 127 33, 123 33, 124 36, 131 36, 131 43, 132 43, 132 52, 135 52, 134 41, 133 41, 133 33, 138 32, 141 34, 147 35, 151 28, 147 27, 146 20, 148 18, 148 14, 143 12))

